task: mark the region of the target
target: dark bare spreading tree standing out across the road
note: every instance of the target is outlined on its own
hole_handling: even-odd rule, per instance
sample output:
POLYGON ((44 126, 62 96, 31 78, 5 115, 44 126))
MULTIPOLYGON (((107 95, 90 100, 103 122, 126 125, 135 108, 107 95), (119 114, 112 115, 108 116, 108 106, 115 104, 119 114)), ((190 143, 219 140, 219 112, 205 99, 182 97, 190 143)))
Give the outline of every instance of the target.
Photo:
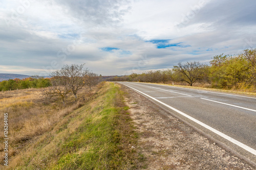
POLYGON ((190 86, 197 80, 201 79, 204 73, 204 64, 199 62, 187 62, 185 64, 178 63, 178 66, 174 66, 174 71, 181 74, 181 81, 187 82, 190 86))

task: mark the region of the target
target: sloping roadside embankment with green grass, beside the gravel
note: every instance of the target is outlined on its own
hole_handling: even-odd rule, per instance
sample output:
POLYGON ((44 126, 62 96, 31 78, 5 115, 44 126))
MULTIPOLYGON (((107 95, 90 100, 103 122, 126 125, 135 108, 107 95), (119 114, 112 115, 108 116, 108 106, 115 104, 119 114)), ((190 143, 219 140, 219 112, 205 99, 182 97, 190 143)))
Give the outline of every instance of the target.
POLYGON ((106 83, 96 99, 31 145, 15 169, 138 169, 144 157, 131 148, 138 134, 122 101, 119 87, 106 83))

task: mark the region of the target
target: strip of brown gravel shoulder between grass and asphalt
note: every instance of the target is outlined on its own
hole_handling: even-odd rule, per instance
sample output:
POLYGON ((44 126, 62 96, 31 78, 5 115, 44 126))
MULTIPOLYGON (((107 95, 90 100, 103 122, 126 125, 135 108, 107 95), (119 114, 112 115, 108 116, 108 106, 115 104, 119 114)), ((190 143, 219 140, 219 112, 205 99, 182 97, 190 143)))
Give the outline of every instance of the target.
POLYGON ((146 169, 255 169, 137 92, 121 85, 146 169))

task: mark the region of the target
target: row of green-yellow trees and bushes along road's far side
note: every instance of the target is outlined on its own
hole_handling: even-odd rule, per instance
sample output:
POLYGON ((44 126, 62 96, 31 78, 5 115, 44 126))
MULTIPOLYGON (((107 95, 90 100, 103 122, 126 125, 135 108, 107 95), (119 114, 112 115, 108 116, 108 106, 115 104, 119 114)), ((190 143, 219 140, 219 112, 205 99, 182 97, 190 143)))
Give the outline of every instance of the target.
POLYGON ((249 89, 256 88, 256 49, 250 48, 242 54, 217 55, 209 64, 199 62, 178 63, 172 69, 146 71, 142 74, 114 77, 108 81, 135 81, 150 83, 194 83, 207 84, 212 88, 249 89))

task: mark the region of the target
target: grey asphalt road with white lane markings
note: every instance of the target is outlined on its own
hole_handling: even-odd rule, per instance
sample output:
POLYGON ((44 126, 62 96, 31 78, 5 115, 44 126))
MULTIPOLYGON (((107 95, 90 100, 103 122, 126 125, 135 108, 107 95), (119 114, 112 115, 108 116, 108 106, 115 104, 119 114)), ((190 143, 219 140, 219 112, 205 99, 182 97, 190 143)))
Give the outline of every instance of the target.
POLYGON ((256 97, 177 86, 118 83, 256 164, 256 97))

